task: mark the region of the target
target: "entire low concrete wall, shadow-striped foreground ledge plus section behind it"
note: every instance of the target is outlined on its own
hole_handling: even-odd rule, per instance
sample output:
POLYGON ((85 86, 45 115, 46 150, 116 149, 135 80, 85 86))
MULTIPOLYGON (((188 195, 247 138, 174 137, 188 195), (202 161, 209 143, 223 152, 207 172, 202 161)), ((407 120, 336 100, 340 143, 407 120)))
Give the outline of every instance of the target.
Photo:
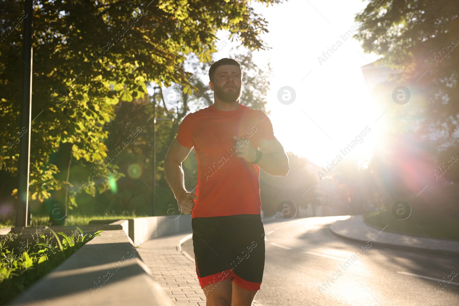
MULTIPOLYGON (((51 226, 56 233, 70 234, 77 226, 51 226)), ((165 234, 191 229, 191 215, 133 219, 93 220, 78 225, 84 233, 102 230, 59 267, 8 305, 150 305, 172 306, 135 246, 165 234), (108 223, 108 224, 107 224, 108 223), (135 243, 134 243, 135 242, 135 243), (135 246, 134 246, 135 245, 135 246)), ((45 227, 11 228, 11 233, 33 237, 45 227)), ((6 234, 6 233, 5 233, 6 234)))

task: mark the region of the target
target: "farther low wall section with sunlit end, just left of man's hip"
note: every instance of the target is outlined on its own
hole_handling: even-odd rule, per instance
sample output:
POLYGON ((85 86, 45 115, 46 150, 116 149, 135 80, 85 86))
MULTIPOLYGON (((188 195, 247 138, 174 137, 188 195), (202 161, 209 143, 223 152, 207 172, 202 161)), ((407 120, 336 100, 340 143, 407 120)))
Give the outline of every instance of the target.
MULTIPOLYGON (((126 219, 129 223, 129 238, 134 245, 141 245, 149 239, 162 235, 191 230, 191 215, 170 215, 155 217, 140 217, 126 219)), ((90 225, 100 226, 101 224, 114 224, 118 219, 113 220, 91 220, 90 225)), ((53 228, 54 229, 54 228, 53 228)))

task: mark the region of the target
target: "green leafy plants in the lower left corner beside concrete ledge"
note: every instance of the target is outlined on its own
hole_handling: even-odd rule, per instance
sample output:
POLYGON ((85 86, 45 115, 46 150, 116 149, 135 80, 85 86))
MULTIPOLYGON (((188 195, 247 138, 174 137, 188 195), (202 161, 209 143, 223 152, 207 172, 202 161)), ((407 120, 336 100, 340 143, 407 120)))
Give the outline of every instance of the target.
POLYGON ((33 241, 24 241, 17 234, 1 235, 0 305, 6 304, 22 290, 50 273, 86 242, 95 236, 100 236, 102 232, 83 235, 80 228, 77 228, 72 236, 59 232, 57 234, 62 236, 61 243, 57 234, 51 230, 55 235, 56 243, 53 242, 54 238, 46 237, 44 231, 37 232, 33 241))

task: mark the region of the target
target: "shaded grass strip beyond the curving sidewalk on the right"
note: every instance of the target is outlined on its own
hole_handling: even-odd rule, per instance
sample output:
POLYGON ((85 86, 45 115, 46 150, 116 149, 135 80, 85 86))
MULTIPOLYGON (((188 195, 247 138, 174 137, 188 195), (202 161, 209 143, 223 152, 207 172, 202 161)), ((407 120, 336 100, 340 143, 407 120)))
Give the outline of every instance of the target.
POLYGON ((387 225, 386 229, 390 231, 459 240, 459 219, 448 213, 413 210, 407 219, 398 220, 392 215, 392 211, 383 208, 365 213, 364 219, 366 223, 379 228, 387 225))

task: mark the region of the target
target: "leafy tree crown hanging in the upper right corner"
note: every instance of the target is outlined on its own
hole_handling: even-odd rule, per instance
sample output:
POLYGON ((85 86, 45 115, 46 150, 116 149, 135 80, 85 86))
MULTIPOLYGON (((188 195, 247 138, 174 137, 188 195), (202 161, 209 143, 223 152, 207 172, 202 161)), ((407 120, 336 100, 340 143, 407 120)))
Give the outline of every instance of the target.
POLYGON ((397 69, 388 80, 390 90, 405 85, 413 95, 415 107, 405 110, 400 127, 411 126, 428 136, 438 155, 458 143, 456 8, 448 0, 370 0, 356 17, 363 27, 354 37, 363 49, 383 56, 382 63, 397 69))

